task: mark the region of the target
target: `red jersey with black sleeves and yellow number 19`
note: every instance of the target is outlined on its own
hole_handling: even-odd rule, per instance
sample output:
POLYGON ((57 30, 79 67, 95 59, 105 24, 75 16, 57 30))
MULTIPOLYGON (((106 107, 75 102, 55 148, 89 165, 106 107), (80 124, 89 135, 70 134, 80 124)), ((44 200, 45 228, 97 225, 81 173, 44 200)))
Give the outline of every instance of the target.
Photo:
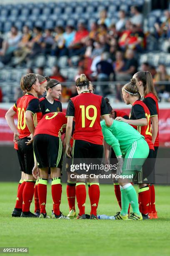
POLYGON ((100 115, 108 115, 107 105, 102 96, 82 92, 70 99, 66 117, 75 118, 74 140, 102 145, 100 115))

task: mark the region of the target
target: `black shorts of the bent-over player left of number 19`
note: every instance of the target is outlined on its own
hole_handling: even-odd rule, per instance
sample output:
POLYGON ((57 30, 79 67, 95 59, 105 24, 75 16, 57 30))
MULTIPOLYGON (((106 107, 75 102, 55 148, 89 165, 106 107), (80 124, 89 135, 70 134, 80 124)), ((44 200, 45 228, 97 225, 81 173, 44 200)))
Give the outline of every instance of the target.
POLYGON ((57 167, 62 169, 62 141, 48 134, 34 137, 34 153, 39 168, 57 167))

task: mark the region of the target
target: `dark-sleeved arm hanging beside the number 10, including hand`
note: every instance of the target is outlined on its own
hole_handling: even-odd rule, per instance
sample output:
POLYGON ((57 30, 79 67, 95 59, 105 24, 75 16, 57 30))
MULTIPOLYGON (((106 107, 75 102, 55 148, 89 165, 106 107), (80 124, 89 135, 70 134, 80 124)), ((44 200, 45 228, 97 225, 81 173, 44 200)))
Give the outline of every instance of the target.
POLYGON ((28 107, 25 111, 25 121, 26 121, 26 125, 30 131, 30 138, 31 138, 30 141, 25 142, 27 145, 32 143, 33 137, 34 137, 35 125, 34 125, 32 116, 39 110, 40 110, 39 100, 33 99, 29 102, 28 107))

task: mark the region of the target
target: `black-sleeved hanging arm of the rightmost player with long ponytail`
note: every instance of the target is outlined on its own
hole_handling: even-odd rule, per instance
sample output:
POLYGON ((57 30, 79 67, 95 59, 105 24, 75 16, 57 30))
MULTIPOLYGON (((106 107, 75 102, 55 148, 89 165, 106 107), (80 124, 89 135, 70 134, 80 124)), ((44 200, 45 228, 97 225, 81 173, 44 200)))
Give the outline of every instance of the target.
POLYGON ((149 108, 150 111, 150 120, 152 123, 152 142, 155 143, 155 139, 158 134, 158 127, 159 127, 159 120, 158 120, 158 112, 156 108, 155 100, 153 100, 151 97, 145 98, 145 104, 149 108))

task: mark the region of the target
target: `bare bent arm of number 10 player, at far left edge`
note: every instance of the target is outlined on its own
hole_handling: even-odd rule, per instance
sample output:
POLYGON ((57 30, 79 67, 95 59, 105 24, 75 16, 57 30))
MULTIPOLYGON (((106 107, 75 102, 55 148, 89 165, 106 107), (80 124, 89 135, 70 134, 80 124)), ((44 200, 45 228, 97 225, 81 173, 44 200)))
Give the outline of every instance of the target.
POLYGON ((5 114, 5 119, 7 120, 8 125, 14 133, 14 141, 18 141, 19 133, 14 123, 14 115, 16 114, 14 108, 16 108, 15 105, 7 111, 5 114))

